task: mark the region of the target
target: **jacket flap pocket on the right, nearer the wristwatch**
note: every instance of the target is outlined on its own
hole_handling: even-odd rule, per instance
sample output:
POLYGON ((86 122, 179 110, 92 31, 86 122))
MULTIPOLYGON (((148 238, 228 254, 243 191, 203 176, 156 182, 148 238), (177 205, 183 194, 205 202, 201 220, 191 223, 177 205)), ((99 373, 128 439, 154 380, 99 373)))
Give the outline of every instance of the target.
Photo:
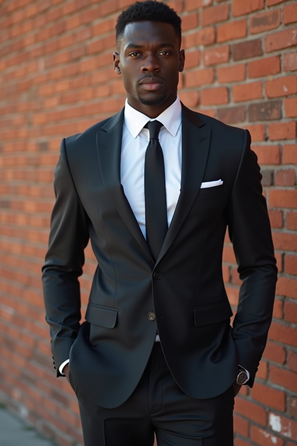
POLYGON ((194 322, 197 327, 224 321, 231 318, 232 315, 233 312, 227 300, 214 305, 194 308, 194 322))

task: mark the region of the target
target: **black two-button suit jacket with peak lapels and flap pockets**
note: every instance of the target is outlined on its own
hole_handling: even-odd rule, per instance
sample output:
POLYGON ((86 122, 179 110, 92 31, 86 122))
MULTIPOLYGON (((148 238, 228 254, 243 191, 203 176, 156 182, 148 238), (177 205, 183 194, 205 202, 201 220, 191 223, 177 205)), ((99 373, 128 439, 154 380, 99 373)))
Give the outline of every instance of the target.
POLYGON ((250 135, 182 107, 181 190, 154 262, 120 182, 123 116, 122 110, 61 142, 42 268, 57 368, 70 358, 81 391, 117 407, 136 387, 158 329, 168 367, 188 395, 224 392, 238 364, 251 373, 252 386, 277 268, 250 135), (200 189, 218 179, 221 186, 200 189), (243 280, 233 328, 222 277, 227 226, 243 280), (89 238, 98 267, 80 325, 77 278, 89 238))

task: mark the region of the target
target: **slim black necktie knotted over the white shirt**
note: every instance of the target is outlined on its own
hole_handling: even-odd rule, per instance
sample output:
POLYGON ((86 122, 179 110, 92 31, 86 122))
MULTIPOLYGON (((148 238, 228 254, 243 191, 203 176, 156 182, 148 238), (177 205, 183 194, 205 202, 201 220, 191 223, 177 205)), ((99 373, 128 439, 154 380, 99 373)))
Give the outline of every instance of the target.
POLYGON ((151 121, 144 126, 150 132, 144 164, 146 242, 155 260, 159 256, 168 229, 164 157, 158 139, 162 126, 159 121, 151 121))

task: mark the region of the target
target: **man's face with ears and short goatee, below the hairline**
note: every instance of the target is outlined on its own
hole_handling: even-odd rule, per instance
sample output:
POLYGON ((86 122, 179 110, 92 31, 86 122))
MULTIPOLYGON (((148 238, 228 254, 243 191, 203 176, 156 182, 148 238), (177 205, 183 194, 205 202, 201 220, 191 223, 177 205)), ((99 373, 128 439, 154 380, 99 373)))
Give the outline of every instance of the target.
POLYGON ((126 25, 119 53, 114 53, 114 69, 122 74, 132 107, 150 116, 175 101, 179 72, 184 66, 184 51, 179 46, 179 38, 169 23, 142 21, 126 25))

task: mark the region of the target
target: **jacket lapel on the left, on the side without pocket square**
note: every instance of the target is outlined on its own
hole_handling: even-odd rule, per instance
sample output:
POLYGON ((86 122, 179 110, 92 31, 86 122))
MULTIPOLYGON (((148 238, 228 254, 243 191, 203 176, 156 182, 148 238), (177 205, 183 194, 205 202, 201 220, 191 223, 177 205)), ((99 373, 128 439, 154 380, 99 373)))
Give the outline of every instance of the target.
MULTIPOLYGON (((124 109, 108 120, 97 132, 97 154, 103 184, 115 208, 131 234, 146 254, 152 258, 150 248, 142 234, 121 184, 121 151, 124 109)), ((154 262, 155 263, 155 262, 154 262)))

